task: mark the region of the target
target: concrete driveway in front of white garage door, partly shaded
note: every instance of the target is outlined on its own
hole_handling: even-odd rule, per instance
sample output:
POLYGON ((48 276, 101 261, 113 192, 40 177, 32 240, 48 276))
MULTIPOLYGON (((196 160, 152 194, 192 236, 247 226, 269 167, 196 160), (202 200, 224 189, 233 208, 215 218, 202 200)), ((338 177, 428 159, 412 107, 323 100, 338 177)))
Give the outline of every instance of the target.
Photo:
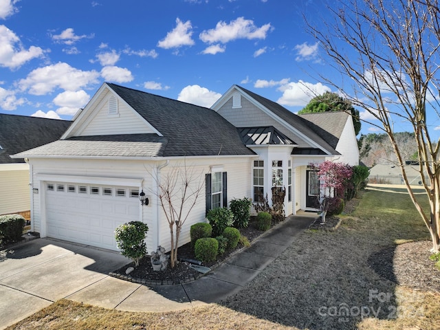
POLYGON ((0 329, 98 284, 129 262, 118 252, 52 239, 0 252, 0 329))

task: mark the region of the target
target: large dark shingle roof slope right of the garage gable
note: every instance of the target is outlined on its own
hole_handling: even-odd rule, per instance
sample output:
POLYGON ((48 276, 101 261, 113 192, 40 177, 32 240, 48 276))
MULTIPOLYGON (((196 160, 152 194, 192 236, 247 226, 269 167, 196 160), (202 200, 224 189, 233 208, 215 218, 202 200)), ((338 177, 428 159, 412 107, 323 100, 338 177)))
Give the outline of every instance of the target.
POLYGON ((236 130, 217 112, 107 83, 116 94, 168 140, 163 156, 254 155, 236 130))

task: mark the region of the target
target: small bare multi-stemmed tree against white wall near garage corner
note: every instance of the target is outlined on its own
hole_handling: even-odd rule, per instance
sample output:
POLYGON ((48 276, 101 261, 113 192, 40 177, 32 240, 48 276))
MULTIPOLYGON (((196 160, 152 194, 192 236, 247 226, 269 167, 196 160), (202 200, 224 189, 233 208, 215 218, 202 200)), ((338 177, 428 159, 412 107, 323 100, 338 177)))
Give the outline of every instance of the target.
POLYGON ((195 173, 193 166, 174 166, 164 177, 153 175, 157 184, 157 197, 170 228, 170 266, 177 263, 179 236, 191 210, 204 187, 203 173, 195 173))

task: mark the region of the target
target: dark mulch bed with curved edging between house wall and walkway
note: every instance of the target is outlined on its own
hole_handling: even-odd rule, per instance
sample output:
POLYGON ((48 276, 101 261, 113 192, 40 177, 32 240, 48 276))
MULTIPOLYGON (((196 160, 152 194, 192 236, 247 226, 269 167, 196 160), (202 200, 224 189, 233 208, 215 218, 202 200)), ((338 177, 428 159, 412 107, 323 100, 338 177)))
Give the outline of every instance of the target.
MULTIPOLYGON (((272 226, 277 223, 272 223, 272 226)), ((240 233, 247 237, 250 242, 254 241, 257 237, 264 234, 256 228, 255 218, 252 217, 251 221, 247 228, 240 228, 240 233)), ((210 263, 201 263, 202 266, 209 267, 210 269, 214 269, 218 265, 221 265, 225 259, 232 256, 237 251, 244 248, 243 245, 239 243, 235 249, 228 250, 221 256, 217 257, 217 260, 210 263)), ((177 250, 177 258, 181 259, 192 259, 197 260, 194 254, 194 249, 191 247, 190 243, 186 243, 182 245, 177 250)), ((110 275, 118 278, 122 278, 127 281, 133 281, 136 283, 148 284, 148 285, 172 285, 179 283, 187 283, 190 281, 194 281, 195 279, 203 276, 203 274, 197 272, 190 267, 191 263, 186 261, 179 261, 177 265, 172 269, 168 266, 166 270, 155 272, 153 267, 151 266, 150 256, 145 256, 140 260, 139 266, 135 267, 134 263, 129 263, 128 265, 124 265, 118 270, 115 270, 110 275), (129 267, 134 267, 135 270, 133 272, 126 274, 126 269, 129 267)))

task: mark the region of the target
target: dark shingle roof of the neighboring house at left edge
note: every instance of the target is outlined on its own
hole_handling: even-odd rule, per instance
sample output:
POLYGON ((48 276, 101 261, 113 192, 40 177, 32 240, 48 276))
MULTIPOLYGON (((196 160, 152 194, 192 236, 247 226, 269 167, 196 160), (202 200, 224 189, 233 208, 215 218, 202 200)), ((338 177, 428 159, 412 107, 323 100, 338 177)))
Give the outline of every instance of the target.
POLYGON ((58 140, 72 122, 0 113, 0 164, 23 163, 10 155, 58 140))

